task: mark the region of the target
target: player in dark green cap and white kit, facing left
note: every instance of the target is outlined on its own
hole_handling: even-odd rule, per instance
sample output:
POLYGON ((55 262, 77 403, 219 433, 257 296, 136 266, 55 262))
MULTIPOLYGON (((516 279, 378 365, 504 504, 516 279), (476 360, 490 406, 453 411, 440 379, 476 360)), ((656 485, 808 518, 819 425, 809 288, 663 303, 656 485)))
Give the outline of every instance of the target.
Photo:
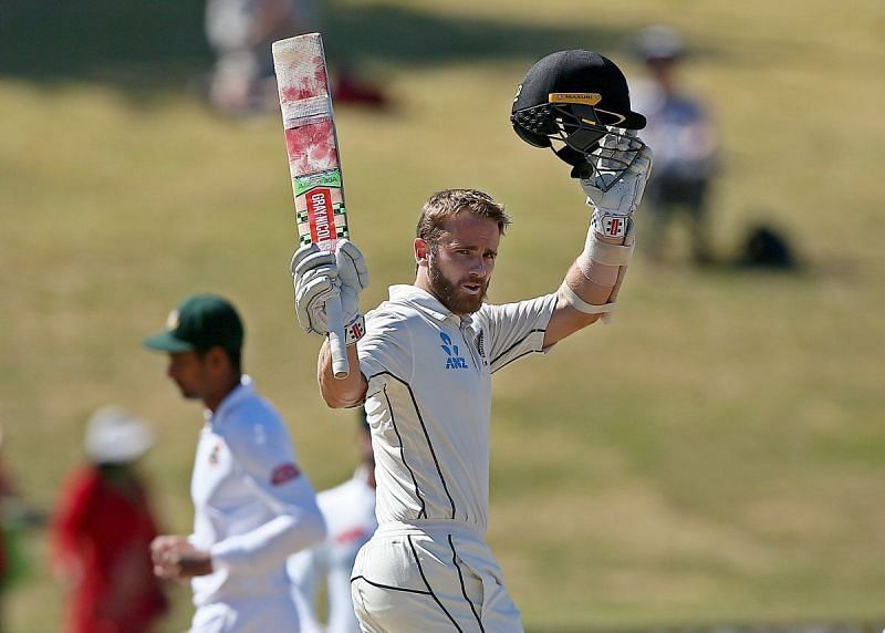
POLYGON ((190 495, 194 533, 152 543, 154 572, 190 579, 191 633, 299 631, 288 557, 325 536, 313 488, 289 433, 240 369, 243 328, 220 297, 198 294, 145 339, 169 354, 167 373, 206 405, 190 495))

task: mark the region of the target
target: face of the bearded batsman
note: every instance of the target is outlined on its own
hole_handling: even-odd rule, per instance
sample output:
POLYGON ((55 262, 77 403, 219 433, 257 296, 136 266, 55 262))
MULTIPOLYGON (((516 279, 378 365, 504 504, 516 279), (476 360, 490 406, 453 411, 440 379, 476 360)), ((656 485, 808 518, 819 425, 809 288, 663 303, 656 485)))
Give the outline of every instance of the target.
POLYGON ((491 281, 501 231, 498 224, 469 212, 450 219, 427 253, 433 294, 455 314, 479 310, 491 281))

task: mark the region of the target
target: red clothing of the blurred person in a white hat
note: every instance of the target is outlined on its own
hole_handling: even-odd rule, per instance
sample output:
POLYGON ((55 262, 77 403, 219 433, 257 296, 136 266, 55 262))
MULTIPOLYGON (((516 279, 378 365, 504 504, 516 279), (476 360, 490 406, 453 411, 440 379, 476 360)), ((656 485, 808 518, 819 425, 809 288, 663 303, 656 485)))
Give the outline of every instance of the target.
MULTIPOLYGON (((118 478, 116 478, 118 479, 118 478)), ((144 488, 112 482, 91 467, 66 484, 53 526, 54 550, 74 588, 65 624, 72 633, 145 633, 166 611, 154 577, 157 528, 144 488)))

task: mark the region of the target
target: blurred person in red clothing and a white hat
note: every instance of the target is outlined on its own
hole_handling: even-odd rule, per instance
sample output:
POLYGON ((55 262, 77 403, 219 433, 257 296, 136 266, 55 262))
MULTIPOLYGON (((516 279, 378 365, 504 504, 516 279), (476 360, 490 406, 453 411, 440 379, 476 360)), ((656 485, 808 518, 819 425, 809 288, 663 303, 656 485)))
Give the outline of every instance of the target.
POLYGON ((66 630, 144 633, 167 610, 150 562, 157 527, 135 461, 147 424, 117 406, 88 421, 88 464, 63 487, 53 521, 54 568, 70 590, 66 630))

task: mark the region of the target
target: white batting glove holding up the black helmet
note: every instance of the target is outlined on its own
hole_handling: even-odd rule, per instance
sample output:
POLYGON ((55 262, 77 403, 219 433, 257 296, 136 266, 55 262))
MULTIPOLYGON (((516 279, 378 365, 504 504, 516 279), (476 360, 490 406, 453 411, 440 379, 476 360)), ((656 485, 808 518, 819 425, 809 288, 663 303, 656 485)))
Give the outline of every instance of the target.
POLYGON ((635 153, 637 143, 632 136, 606 134, 594 155, 595 169, 591 178, 582 178, 581 188, 587 205, 595 208, 592 227, 605 238, 623 238, 636 207, 643 199, 645 184, 652 173, 652 149, 644 145, 635 153), (624 164, 629 160, 625 172, 624 164))

